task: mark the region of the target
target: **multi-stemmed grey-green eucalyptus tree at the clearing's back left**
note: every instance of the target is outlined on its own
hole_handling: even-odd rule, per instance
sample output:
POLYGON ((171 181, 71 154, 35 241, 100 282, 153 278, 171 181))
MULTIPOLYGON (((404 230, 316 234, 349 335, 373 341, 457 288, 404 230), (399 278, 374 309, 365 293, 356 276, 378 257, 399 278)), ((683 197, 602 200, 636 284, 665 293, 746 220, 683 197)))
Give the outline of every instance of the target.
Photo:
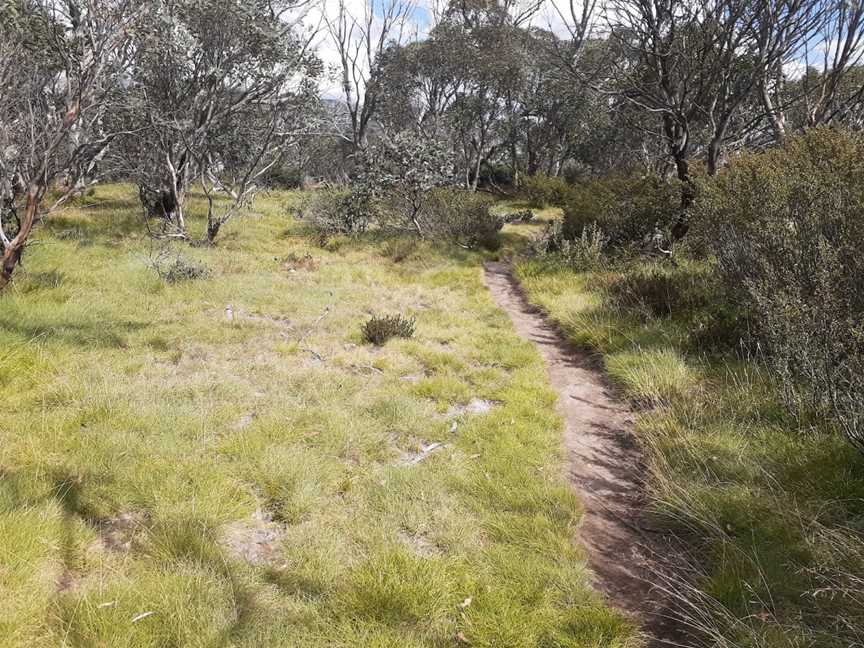
POLYGON ((202 240, 212 243, 311 129, 320 64, 300 30, 302 9, 292 0, 155 0, 139 17, 114 114, 132 134, 115 153, 163 235, 191 238, 186 197, 198 186, 202 240))

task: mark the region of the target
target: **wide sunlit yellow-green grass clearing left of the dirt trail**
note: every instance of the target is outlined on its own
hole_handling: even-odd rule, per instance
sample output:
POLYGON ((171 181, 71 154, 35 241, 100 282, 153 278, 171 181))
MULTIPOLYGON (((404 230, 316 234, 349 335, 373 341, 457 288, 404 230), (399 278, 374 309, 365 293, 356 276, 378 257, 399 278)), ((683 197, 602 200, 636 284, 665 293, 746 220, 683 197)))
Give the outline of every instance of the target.
POLYGON ((481 258, 319 248, 292 200, 178 245, 209 276, 176 283, 129 188, 40 230, 0 298, 0 643, 639 645, 481 258), (376 312, 414 337, 364 344, 376 312), (496 407, 452 433, 472 398, 496 407))

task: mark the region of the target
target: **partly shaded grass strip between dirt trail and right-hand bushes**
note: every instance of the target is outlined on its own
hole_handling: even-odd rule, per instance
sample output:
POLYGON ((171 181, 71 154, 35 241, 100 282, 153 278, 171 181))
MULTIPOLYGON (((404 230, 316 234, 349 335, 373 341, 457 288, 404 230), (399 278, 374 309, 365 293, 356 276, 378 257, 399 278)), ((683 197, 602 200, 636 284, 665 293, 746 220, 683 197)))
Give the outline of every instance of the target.
POLYGON ((711 646, 861 645, 864 457, 826 423, 793 418, 759 364, 723 351, 718 323, 731 320, 718 287, 703 294, 707 266, 655 264, 517 272, 643 408, 656 523, 689 549, 690 582, 674 588, 689 622, 711 646))

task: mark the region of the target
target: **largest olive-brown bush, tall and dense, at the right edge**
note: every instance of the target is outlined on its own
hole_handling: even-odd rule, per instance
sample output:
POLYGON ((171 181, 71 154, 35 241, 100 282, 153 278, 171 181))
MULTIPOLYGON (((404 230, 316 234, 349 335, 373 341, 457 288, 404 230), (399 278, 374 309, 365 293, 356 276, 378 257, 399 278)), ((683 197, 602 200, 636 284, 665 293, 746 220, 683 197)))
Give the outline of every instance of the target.
POLYGON ((744 155, 699 210, 792 410, 833 417, 864 449, 864 141, 817 129, 744 155))

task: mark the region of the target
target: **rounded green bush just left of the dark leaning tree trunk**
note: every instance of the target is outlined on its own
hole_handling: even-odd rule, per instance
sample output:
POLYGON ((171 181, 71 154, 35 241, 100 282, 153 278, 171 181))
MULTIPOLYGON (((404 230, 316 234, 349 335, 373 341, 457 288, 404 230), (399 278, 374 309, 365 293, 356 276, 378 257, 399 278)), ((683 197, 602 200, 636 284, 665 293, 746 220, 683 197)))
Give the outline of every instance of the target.
POLYGON ((680 193, 656 176, 609 177, 574 185, 564 206, 564 231, 576 239, 596 223, 613 247, 641 244, 675 222, 680 193))

